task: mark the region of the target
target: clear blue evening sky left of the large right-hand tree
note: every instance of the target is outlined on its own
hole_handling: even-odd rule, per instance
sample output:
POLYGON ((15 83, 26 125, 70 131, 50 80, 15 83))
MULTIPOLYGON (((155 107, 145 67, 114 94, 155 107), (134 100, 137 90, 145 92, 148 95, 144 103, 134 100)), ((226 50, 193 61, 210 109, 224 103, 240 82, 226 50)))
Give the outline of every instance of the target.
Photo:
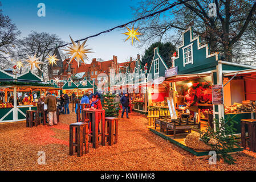
MULTIPOLYGON (((136 6, 139 2, 135 0, 0 1, 3 14, 13 20, 22 32, 21 36, 27 36, 31 30, 49 32, 58 35, 65 42, 70 42, 69 35, 74 40, 78 40, 133 20, 130 7, 136 6), (37 15, 38 3, 46 5, 45 17, 37 15)), ((126 28, 88 39, 88 48, 92 48, 95 52, 88 54, 90 61, 92 58, 110 60, 116 55, 117 60, 123 62, 129 56, 136 57, 137 53, 142 54, 144 48, 132 46, 131 40, 124 42, 126 36, 121 34, 124 31, 126 28)))

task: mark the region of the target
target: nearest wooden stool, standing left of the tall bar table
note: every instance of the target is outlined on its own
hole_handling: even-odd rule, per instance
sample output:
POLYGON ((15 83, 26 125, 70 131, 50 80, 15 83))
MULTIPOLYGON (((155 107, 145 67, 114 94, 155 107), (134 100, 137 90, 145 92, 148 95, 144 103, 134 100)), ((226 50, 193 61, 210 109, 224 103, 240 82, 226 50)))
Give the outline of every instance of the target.
POLYGON ((70 155, 74 155, 75 151, 78 152, 78 156, 83 155, 83 146, 85 154, 89 152, 88 146, 88 123, 76 122, 70 124, 70 155), (75 128, 75 143, 74 143, 74 129, 75 128))

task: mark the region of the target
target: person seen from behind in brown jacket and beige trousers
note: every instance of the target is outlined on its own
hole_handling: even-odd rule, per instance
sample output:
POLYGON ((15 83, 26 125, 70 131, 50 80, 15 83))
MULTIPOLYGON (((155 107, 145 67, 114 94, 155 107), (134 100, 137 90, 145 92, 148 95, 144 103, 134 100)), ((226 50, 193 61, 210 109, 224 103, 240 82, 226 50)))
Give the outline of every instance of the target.
POLYGON ((56 113, 56 97, 52 94, 47 94, 48 96, 44 99, 44 104, 47 105, 49 126, 57 125, 57 113, 56 113))

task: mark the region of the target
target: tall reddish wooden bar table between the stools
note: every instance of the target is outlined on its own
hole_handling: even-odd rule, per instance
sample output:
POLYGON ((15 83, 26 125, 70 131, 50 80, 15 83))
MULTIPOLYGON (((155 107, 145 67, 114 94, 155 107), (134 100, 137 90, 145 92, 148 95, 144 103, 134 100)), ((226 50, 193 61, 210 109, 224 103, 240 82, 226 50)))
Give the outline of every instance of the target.
POLYGON ((92 147, 99 147, 99 137, 101 137, 101 145, 105 146, 105 110, 102 109, 83 109, 82 122, 91 122, 91 130, 89 137, 92 138, 92 147), (101 133, 99 133, 99 121, 101 117, 101 133))

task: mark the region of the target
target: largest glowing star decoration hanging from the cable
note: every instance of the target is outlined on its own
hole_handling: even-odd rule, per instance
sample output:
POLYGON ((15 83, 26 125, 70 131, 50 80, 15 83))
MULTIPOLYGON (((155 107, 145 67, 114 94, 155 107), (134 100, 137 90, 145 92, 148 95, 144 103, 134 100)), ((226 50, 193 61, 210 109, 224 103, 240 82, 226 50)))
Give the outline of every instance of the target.
POLYGON ((70 62, 73 59, 76 59, 76 61, 78 62, 78 67, 79 67, 80 60, 82 60, 83 63, 84 63, 84 59, 89 60, 86 53, 91 53, 91 51, 90 51, 91 49, 86 49, 87 46, 84 46, 84 44, 86 44, 86 42, 87 42, 87 39, 84 40, 84 42, 81 45, 80 45, 80 41, 76 44, 74 42, 74 40, 71 38, 71 36, 70 36, 70 39, 71 39, 72 45, 68 44, 68 49, 63 49, 63 51, 67 51, 68 52, 67 55, 71 56, 68 64, 70 64, 70 62))

